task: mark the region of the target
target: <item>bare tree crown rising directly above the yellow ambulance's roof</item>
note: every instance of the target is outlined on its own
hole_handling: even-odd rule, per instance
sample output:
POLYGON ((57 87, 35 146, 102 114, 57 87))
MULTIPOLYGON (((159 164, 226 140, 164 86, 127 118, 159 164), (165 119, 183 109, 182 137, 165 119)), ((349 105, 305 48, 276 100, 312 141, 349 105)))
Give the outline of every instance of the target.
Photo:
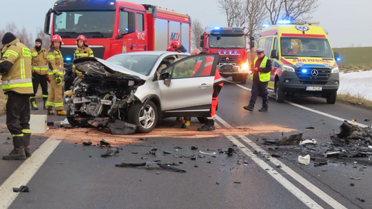
POLYGON ((311 13, 319 7, 318 0, 282 0, 282 18, 287 20, 307 21, 312 18, 311 13))

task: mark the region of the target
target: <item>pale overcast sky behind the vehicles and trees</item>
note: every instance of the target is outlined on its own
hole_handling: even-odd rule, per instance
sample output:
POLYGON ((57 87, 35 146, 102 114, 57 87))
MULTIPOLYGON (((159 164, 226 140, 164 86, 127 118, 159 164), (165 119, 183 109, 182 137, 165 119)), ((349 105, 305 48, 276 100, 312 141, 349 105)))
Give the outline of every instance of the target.
MULTIPOLYGON (((148 3, 173 8, 181 14, 189 14, 203 25, 227 25, 220 14, 216 0, 127 0, 134 3, 148 3)), ((0 28, 8 22, 21 29, 23 26, 36 34, 43 28, 45 13, 52 8, 54 0, 0 0, 0 28), (16 8, 16 9, 14 9, 16 8)), ((332 47, 372 46, 371 0, 319 0, 320 7, 313 13, 313 21, 329 32, 332 47)))

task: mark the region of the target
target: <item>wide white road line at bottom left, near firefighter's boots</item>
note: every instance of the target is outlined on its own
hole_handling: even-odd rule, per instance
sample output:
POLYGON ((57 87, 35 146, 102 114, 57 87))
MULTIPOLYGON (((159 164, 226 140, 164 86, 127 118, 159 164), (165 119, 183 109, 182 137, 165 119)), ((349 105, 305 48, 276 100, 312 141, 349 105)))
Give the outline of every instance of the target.
MULTIPOLYGON (((60 139, 61 137, 59 137, 60 139)), ((17 168, 17 170, 4 181, 0 186, 0 208, 6 209, 12 204, 14 199, 19 195, 19 192, 13 192, 13 188, 19 186, 27 186, 30 179, 37 173, 37 170, 43 165, 49 155, 52 154, 54 149, 61 143, 61 140, 57 140, 51 136, 46 140, 31 157, 17 168)), ((32 190, 32 188, 30 188, 32 190)))

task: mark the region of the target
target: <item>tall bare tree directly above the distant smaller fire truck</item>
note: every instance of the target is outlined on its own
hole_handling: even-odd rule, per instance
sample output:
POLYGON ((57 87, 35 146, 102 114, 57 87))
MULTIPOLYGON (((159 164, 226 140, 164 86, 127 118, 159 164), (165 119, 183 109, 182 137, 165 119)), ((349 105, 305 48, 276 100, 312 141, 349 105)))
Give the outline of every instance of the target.
POLYGON ((226 16, 228 27, 241 27, 247 23, 247 1, 245 0, 218 0, 220 11, 226 16))

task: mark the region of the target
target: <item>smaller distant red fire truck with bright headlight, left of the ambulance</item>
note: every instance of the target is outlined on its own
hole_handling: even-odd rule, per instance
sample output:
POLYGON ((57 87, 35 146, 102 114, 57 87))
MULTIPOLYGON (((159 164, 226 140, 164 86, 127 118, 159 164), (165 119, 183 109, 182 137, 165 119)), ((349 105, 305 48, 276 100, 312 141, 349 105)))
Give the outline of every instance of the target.
POLYGON ((232 76, 234 81, 247 82, 249 64, 245 28, 207 27, 200 36, 200 47, 208 54, 218 53, 218 70, 221 76, 232 76))

